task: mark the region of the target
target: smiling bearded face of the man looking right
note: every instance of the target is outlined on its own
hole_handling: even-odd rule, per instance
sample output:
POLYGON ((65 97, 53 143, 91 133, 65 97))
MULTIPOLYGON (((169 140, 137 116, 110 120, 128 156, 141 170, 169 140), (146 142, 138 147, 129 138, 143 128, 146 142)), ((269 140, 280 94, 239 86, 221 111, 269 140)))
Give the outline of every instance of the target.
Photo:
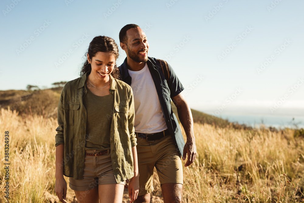
POLYGON ((127 31, 127 55, 136 62, 148 60, 149 43, 146 34, 140 27, 127 31))

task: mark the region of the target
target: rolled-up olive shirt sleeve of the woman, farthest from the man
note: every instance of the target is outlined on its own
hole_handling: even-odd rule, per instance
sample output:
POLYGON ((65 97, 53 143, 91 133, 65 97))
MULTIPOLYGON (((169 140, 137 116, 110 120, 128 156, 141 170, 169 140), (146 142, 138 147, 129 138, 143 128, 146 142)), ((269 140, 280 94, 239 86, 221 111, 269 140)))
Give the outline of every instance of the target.
POLYGON ((58 127, 56 128, 57 134, 55 135, 55 147, 60 144, 64 144, 64 110, 62 108, 62 101, 64 96, 64 88, 61 91, 60 100, 58 103, 58 127))

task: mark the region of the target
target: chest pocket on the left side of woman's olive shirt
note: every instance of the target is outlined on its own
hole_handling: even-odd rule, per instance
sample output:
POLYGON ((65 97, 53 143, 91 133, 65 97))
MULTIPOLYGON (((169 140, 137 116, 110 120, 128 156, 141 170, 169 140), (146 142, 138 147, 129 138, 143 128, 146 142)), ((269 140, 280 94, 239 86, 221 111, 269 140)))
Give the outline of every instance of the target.
POLYGON ((64 110, 64 124, 76 125, 79 120, 79 107, 80 103, 76 102, 63 102, 62 108, 64 110))

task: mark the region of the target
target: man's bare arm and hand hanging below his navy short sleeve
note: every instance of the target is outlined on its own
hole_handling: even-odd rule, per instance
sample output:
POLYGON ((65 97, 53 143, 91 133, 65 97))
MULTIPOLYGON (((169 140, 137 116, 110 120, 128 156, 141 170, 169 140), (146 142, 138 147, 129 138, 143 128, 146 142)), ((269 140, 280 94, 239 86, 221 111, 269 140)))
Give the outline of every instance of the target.
POLYGON ((187 167, 194 162, 197 154, 195 146, 195 137, 193 132, 192 114, 184 95, 179 93, 177 96, 174 96, 172 100, 177 108, 178 118, 181 121, 181 125, 183 126, 187 136, 187 142, 185 144, 183 152, 183 160, 186 159, 186 155, 188 154, 188 159, 185 163, 185 167, 187 167))

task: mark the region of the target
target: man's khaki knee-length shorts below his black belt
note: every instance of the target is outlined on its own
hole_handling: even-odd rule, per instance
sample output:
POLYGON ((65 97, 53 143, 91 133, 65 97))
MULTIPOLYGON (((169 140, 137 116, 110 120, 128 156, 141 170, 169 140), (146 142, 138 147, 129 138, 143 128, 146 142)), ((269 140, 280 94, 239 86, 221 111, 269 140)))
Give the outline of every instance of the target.
POLYGON ((145 195, 154 190, 154 167, 161 184, 183 184, 181 157, 170 135, 154 142, 147 142, 144 138, 137 138, 136 149, 139 169, 138 195, 145 195))

